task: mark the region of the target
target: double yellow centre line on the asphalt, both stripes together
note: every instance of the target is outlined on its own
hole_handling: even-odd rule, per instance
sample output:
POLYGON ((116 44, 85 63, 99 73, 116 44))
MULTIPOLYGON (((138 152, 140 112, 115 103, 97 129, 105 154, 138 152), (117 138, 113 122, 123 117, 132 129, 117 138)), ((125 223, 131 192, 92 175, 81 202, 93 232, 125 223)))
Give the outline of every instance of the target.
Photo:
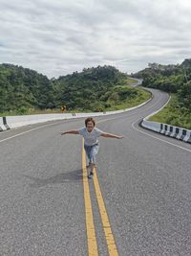
MULTIPOLYGON (((84 139, 82 144, 84 144, 84 139)), ((96 243, 96 232, 95 232, 95 224, 94 224, 94 217, 93 217, 93 211, 92 211, 92 202, 90 197, 90 189, 89 189, 89 183, 87 178, 86 154, 85 154, 83 145, 82 145, 82 170, 83 170, 86 228, 87 228, 87 238, 88 238, 88 253, 89 253, 88 255, 95 256, 95 255, 98 255, 97 243, 96 243)), ((100 190, 100 186, 99 186, 97 175, 96 175, 96 169, 94 170, 93 179, 95 184, 98 208, 101 216, 106 243, 108 246, 108 252, 110 256, 118 256, 117 245, 115 243, 115 239, 112 233, 112 228, 111 228, 110 221, 105 208, 105 203, 101 195, 101 190, 100 190)))

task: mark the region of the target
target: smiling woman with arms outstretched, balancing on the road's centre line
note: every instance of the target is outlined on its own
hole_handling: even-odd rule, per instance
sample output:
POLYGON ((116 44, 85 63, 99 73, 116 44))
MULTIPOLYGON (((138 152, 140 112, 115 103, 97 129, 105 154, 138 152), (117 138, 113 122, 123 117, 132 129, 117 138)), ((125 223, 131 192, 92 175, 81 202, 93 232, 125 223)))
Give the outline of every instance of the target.
POLYGON ((117 138, 121 139, 123 136, 117 136, 115 134, 106 133, 99 128, 96 128, 96 121, 92 117, 88 117, 85 120, 85 127, 79 129, 72 129, 67 131, 62 131, 61 135, 64 134, 80 134, 84 137, 84 149, 89 159, 89 165, 87 168, 90 168, 90 174, 88 175, 91 178, 94 173, 94 167, 96 166, 96 154, 99 149, 99 143, 97 137, 102 136, 105 138, 117 138))

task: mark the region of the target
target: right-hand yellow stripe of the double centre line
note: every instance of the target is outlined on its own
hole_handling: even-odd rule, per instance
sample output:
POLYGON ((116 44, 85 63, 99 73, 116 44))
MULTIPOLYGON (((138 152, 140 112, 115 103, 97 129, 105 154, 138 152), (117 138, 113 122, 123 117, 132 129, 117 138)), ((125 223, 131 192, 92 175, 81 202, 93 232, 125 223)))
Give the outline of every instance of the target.
POLYGON ((95 190, 96 190, 96 199, 98 202, 101 221, 103 224, 105 238, 108 245, 109 255, 118 256, 117 245, 115 243, 115 239, 112 233, 112 228, 111 228, 110 221, 105 208, 105 203, 101 195, 101 190, 100 190, 100 186, 99 186, 97 175, 96 175, 96 169, 94 170, 94 183, 95 183, 95 190))

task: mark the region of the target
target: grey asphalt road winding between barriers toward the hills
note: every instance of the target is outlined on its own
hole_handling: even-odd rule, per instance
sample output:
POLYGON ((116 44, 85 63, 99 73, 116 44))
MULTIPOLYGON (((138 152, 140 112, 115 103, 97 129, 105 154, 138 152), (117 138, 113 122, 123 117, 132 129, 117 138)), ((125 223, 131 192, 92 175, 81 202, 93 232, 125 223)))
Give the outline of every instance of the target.
MULTIPOLYGON (((96 175, 120 256, 191 255, 191 146, 138 127, 166 93, 147 105, 96 118, 96 175)), ((88 255, 82 139, 60 131, 84 119, 0 133, 0 255, 88 255)), ((95 177, 94 177, 95 178, 95 177)), ((94 180, 88 181, 99 255, 109 255, 94 180)), ((93 254, 94 255, 94 254, 93 254)), ((112 254, 111 254, 112 255, 112 254)))

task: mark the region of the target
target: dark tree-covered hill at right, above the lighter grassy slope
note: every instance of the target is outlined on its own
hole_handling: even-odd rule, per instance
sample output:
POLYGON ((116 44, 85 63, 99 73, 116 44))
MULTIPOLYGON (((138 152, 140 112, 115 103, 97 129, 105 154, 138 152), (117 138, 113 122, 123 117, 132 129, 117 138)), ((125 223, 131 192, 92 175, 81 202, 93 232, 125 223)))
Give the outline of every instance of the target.
POLYGON ((179 106, 191 110, 191 58, 177 65, 150 63, 148 68, 133 76, 142 78, 145 87, 176 93, 179 106))

